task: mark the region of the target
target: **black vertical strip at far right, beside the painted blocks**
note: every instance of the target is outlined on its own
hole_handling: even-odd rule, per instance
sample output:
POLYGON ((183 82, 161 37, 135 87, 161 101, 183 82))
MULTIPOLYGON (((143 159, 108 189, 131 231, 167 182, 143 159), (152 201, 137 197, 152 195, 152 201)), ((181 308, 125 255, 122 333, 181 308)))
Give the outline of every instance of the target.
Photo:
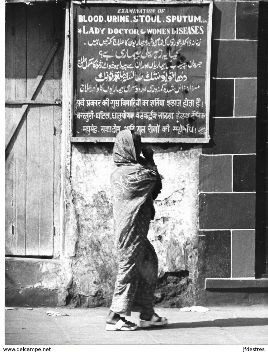
POLYGON ((256 277, 268 277, 268 3, 259 2, 256 119, 256 277), (266 273, 266 274, 265 274, 266 273))

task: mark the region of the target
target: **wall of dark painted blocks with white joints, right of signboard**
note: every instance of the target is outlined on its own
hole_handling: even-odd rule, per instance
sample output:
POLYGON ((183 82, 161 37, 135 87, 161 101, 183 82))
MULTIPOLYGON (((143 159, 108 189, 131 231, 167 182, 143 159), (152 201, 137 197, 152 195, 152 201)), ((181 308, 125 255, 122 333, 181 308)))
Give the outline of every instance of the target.
MULTIPOLYGON (((256 196, 259 204, 265 202, 256 194, 256 155, 260 172, 266 156, 258 130, 266 128, 267 119, 257 109, 257 96, 260 99, 262 90, 267 91, 267 82, 260 84, 265 65, 267 80, 267 58, 261 58, 267 30, 262 15, 259 18, 261 13, 267 16, 267 6, 260 6, 257 1, 213 3, 211 141, 203 146, 199 173, 198 300, 202 302, 213 296, 218 302, 219 297, 201 290, 205 278, 255 277, 255 241, 261 227, 256 224, 256 234, 255 217, 263 221, 260 207, 260 213, 255 212, 256 196)), ((233 303, 246 302, 250 294, 227 293, 224 301, 230 297, 233 303)))

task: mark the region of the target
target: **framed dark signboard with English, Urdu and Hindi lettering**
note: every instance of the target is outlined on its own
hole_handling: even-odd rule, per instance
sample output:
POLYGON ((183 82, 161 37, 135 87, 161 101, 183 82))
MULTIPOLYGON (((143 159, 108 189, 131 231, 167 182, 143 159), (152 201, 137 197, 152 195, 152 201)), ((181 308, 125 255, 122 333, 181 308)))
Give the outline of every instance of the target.
POLYGON ((206 143, 211 2, 72 2, 73 138, 206 143))

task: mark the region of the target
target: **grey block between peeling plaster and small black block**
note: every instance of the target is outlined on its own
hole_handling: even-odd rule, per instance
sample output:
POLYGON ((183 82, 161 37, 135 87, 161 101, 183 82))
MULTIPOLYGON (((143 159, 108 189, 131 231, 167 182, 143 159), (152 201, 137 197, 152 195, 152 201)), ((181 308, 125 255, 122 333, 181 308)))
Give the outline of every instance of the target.
POLYGON ((231 192, 232 156, 200 155, 199 179, 201 192, 231 192))

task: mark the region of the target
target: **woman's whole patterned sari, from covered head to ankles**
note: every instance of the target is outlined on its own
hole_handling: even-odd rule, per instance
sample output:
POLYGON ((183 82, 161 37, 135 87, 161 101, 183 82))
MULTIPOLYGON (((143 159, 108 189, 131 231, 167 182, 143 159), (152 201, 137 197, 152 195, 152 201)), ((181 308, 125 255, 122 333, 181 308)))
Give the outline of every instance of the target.
POLYGON ((130 130, 118 133, 113 160, 111 184, 119 268, 111 310, 124 315, 131 311, 151 314, 158 260, 147 234, 154 217, 152 191, 158 173, 144 158, 138 157, 137 161, 130 130))

